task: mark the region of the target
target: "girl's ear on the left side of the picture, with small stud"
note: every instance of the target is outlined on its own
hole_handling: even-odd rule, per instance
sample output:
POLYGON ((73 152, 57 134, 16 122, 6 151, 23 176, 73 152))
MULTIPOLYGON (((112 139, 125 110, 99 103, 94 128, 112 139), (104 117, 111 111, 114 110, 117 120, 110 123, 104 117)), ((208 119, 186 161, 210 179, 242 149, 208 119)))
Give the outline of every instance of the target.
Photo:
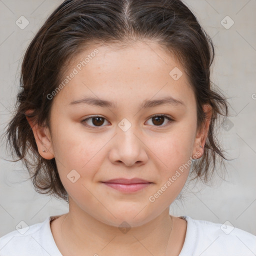
MULTIPOLYGON (((29 115, 31 112, 32 110, 27 110, 25 114, 29 115)), ((46 126, 39 126, 37 123, 33 123, 29 116, 26 116, 26 119, 32 128, 39 154, 45 159, 54 158, 49 128, 46 126)))

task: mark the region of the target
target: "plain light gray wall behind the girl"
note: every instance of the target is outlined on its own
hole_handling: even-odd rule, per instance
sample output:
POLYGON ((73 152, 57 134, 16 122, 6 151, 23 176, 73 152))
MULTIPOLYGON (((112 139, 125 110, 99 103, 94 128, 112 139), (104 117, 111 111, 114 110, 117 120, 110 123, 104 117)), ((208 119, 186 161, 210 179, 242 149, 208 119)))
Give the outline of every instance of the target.
MULTIPOLYGON (((0 133, 10 118, 19 85, 24 50, 45 18, 60 0, 0 0, 0 133), (24 16, 29 24, 21 29, 15 21, 24 16)), ((211 36, 216 56, 212 81, 229 97, 231 116, 219 130, 219 139, 229 158, 226 181, 211 186, 188 185, 182 201, 175 200, 170 213, 189 215, 216 223, 228 220, 235 227, 256 235, 256 0, 185 0, 211 36), (229 26, 220 23, 223 20, 229 26), (224 18, 224 19, 223 19, 224 18), (254 24, 254 25, 253 25, 254 24), (254 94, 253 94, 254 93, 254 94)), ((24 22, 22 22, 24 24, 24 22)), ((0 147, 0 236, 21 221, 42 222, 48 215, 66 213, 68 205, 36 193, 25 166, 3 158, 0 147)))

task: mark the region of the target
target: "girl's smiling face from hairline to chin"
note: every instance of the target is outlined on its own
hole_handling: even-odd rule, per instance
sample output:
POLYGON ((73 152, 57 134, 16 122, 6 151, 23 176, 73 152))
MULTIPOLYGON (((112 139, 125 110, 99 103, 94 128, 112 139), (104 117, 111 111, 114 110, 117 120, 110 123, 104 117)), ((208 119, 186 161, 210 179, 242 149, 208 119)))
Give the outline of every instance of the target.
POLYGON ((94 49, 70 64, 66 75, 75 75, 52 99, 50 130, 40 142, 36 138, 38 150, 44 158, 55 157, 70 212, 137 226, 157 217, 179 194, 205 138, 196 130, 187 77, 159 45, 96 48, 80 70, 80 61, 94 49), (146 183, 105 183, 116 178, 146 183))

